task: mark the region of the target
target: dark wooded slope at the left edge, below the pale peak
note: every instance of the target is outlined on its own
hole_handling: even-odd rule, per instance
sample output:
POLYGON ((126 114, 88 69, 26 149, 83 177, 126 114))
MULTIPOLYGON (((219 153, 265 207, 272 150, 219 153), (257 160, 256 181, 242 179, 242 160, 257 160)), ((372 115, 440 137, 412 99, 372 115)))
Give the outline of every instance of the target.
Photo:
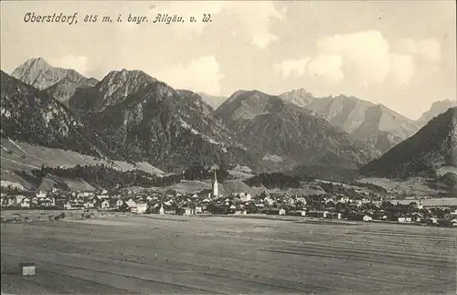
POLYGON ((1 137, 112 155, 101 137, 57 100, 1 71, 1 137))

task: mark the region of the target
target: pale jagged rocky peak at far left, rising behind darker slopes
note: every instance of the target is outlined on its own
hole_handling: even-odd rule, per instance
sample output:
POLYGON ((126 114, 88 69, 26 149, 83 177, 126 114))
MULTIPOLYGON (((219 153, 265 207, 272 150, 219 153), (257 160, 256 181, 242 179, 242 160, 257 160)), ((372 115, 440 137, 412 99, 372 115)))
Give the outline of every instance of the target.
POLYGON ((17 67, 11 74, 16 79, 27 83, 38 90, 45 90, 62 79, 79 83, 87 79, 71 68, 54 68, 43 58, 31 58, 17 67))

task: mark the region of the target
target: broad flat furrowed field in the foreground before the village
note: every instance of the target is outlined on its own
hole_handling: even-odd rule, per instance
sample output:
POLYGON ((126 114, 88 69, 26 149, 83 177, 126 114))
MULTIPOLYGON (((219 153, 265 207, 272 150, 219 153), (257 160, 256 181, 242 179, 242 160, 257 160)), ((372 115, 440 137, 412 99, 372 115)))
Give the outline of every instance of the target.
POLYGON ((456 234, 218 216, 2 224, 2 293, 455 294, 456 234), (28 261, 36 276, 19 276, 28 261))

